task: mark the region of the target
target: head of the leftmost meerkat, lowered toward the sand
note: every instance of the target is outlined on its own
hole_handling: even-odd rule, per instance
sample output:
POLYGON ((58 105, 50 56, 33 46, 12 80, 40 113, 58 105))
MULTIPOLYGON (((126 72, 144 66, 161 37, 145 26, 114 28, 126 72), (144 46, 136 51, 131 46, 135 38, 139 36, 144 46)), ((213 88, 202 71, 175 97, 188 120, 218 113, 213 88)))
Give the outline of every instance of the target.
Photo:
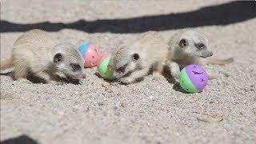
POLYGON ((52 62, 56 74, 75 79, 86 78, 82 54, 73 45, 62 43, 54 46, 52 62))

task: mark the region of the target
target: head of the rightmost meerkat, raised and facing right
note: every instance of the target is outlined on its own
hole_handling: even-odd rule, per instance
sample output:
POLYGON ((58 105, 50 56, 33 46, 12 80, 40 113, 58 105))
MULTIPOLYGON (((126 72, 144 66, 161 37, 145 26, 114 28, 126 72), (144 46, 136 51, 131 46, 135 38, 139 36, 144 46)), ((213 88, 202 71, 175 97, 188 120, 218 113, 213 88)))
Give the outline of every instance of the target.
POLYGON ((207 58, 213 55, 213 52, 208 50, 208 39, 194 30, 181 34, 175 45, 178 46, 178 51, 189 56, 207 58))

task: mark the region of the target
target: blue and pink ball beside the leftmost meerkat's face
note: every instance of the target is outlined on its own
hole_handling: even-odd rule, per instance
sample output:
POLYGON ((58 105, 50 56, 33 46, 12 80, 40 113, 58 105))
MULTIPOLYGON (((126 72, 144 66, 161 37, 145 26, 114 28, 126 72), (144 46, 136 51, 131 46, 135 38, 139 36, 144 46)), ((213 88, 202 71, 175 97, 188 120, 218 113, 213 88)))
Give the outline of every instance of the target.
POLYGON ((85 42, 79 47, 82 57, 85 59, 85 67, 98 66, 101 59, 101 54, 98 50, 98 46, 90 42, 85 42))

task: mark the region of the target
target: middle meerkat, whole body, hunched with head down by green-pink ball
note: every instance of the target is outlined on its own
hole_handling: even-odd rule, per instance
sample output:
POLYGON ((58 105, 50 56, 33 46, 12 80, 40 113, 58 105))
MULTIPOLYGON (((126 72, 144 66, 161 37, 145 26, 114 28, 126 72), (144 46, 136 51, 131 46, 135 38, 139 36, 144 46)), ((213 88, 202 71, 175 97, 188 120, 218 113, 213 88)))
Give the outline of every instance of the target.
POLYGON ((142 34, 131 46, 119 46, 110 60, 113 76, 129 84, 145 77, 152 68, 154 78, 161 78, 168 47, 156 31, 142 34))

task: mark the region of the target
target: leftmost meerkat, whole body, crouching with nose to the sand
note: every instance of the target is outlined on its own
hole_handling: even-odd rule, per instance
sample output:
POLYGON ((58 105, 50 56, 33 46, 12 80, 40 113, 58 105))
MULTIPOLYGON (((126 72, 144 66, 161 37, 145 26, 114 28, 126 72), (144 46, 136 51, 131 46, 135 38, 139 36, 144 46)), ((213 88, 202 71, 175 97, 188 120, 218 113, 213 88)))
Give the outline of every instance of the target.
POLYGON ((61 78, 85 78, 82 54, 69 43, 57 43, 43 30, 30 30, 14 42, 11 58, 1 62, 0 70, 14 67, 14 79, 28 82, 32 72, 46 83, 61 78))

